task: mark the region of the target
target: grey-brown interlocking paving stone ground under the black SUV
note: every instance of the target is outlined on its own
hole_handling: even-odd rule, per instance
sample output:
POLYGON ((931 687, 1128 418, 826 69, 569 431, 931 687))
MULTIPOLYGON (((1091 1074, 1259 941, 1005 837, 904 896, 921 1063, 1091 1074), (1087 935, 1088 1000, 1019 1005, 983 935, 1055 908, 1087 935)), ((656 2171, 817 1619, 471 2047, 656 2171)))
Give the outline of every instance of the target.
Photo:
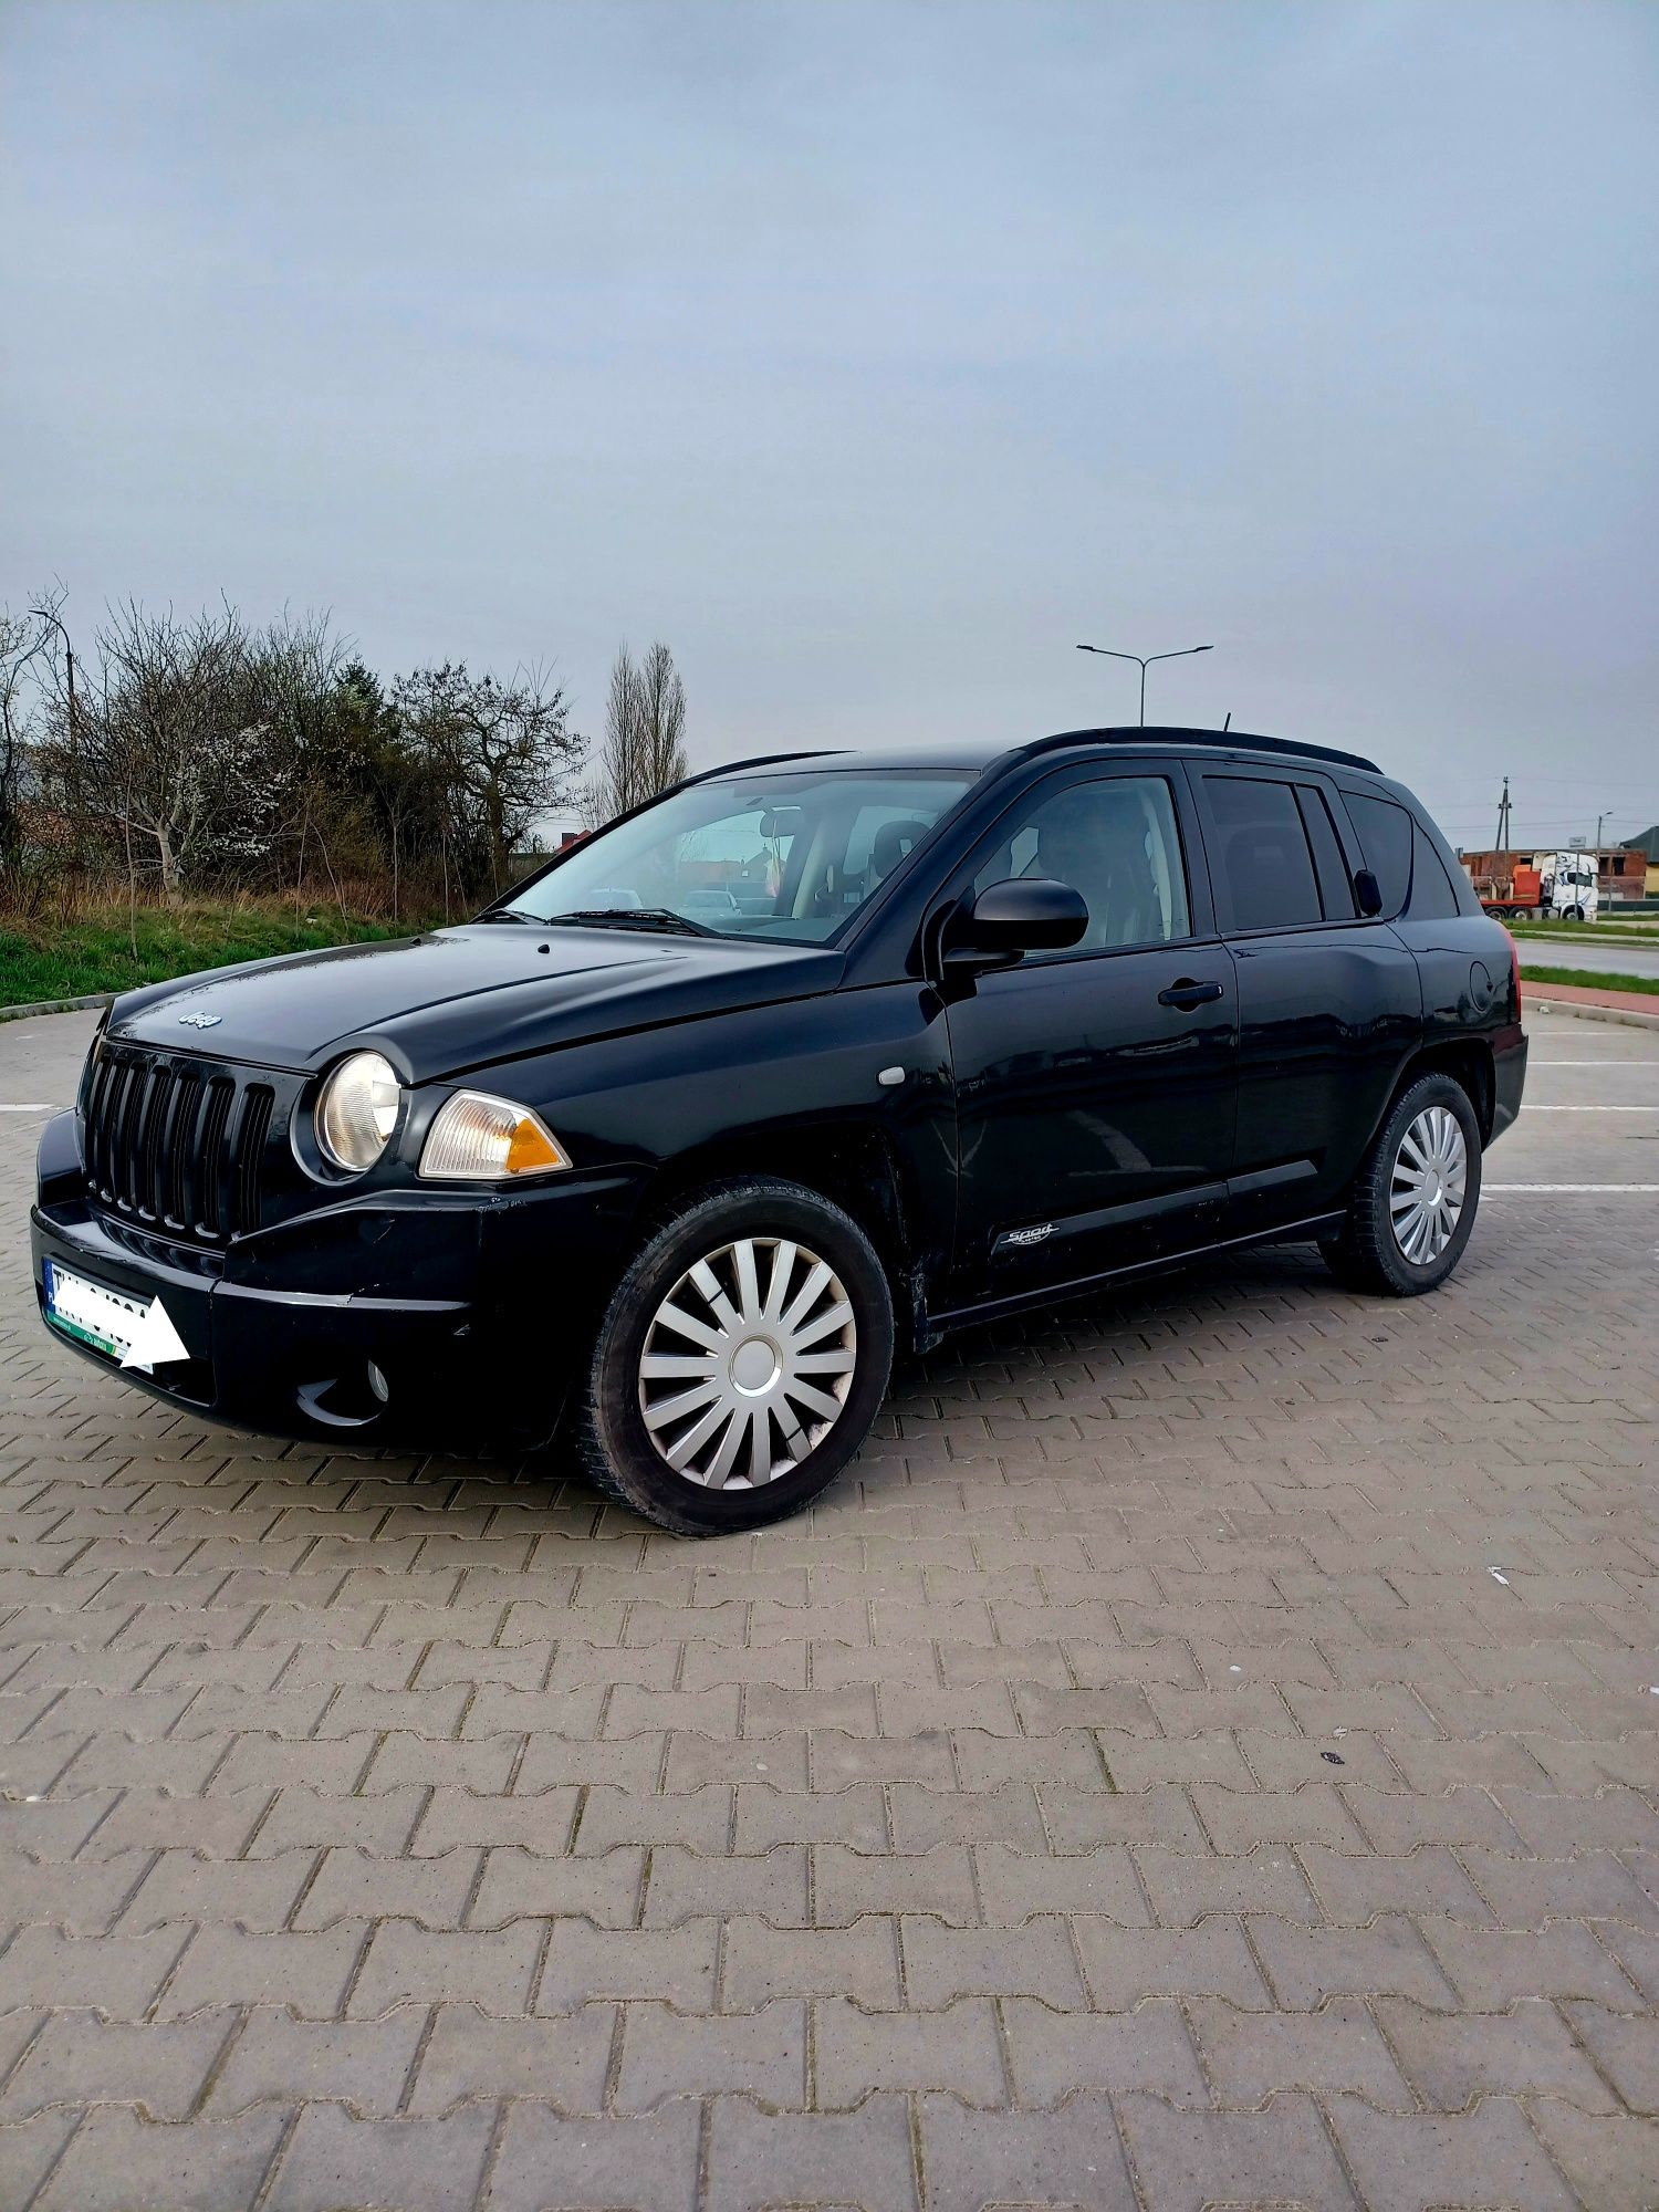
POLYGON ((964 1336, 719 1544, 95 1374, 0 1115, 0 2208, 1659 2201, 1659 1199, 1515 1188, 1659 1053, 1533 1048, 1652 1110, 1440 1296, 964 1336))

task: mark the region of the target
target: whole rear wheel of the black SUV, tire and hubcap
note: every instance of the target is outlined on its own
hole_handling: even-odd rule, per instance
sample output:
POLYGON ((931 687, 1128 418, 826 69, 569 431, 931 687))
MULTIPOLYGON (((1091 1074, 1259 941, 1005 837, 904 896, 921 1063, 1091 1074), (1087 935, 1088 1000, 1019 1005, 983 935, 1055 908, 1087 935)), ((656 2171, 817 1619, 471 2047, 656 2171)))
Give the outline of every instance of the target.
POLYGON ((1389 1110, 1354 1177, 1347 1221, 1321 1252, 1338 1283, 1387 1298, 1438 1290, 1480 1203, 1480 1124, 1449 1075, 1425 1075, 1389 1110))

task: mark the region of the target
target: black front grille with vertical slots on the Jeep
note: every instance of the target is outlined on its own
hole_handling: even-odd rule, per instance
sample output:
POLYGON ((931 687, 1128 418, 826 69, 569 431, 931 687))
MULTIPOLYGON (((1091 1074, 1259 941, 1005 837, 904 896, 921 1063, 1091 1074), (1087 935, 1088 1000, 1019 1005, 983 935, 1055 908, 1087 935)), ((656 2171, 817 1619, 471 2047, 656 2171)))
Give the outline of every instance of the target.
POLYGON ((104 1046, 84 1104, 93 1197, 168 1237, 243 1237, 261 1219, 274 1102, 234 1068, 104 1046))

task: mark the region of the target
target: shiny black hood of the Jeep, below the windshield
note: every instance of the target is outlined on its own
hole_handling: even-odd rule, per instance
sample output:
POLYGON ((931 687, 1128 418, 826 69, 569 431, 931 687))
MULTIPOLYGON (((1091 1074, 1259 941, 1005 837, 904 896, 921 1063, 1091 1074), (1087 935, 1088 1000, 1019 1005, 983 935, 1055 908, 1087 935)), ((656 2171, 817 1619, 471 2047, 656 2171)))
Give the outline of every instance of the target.
POLYGON ((345 1044, 405 1079, 827 991, 841 956, 734 938, 489 922, 285 953, 128 991, 111 1037, 312 1071, 345 1044))

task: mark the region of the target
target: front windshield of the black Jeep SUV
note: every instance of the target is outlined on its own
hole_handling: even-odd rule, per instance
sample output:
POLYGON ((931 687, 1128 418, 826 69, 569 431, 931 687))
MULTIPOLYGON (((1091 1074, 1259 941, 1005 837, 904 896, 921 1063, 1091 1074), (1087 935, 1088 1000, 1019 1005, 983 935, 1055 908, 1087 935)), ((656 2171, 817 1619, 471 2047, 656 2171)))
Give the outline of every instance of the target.
POLYGON ((971 781, 807 770, 692 783, 575 845, 502 911, 823 945, 971 781))

